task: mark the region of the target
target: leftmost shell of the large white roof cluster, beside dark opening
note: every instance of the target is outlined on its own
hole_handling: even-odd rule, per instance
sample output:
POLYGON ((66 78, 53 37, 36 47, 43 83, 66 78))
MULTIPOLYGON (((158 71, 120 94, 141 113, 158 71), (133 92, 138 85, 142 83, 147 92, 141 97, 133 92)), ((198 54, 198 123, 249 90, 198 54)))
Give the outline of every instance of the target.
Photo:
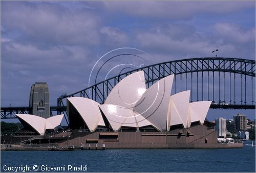
POLYGON ((84 97, 69 97, 67 100, 78 111, 90 131, 95 131, 98 125, 105 126, 98 107, 99 103, 84 97))

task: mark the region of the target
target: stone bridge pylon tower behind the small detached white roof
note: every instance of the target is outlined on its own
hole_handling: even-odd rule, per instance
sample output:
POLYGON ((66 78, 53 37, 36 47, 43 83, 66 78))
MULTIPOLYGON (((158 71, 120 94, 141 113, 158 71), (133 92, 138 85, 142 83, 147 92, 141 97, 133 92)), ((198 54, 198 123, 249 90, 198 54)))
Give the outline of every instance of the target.
POLYGON ((31 86, 29 107, 33 115, 50 117, 49 90, 46 82, 36 82, 31 86))

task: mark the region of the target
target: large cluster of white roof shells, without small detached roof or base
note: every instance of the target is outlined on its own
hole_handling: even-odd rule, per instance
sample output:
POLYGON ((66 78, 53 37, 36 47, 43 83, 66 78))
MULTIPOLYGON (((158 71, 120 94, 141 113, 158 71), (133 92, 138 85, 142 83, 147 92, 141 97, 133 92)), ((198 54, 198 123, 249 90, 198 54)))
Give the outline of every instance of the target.
POLYGON ((167 76, 146 89, 144 71, 138 71, 122 79, 102 105, 89 98, 67 98, 70 127, 91 132, 98 127, 166 132, 203 124, 211 102, 189 103, 189 90, 170 96, 173 79, 174 75, 167 76))

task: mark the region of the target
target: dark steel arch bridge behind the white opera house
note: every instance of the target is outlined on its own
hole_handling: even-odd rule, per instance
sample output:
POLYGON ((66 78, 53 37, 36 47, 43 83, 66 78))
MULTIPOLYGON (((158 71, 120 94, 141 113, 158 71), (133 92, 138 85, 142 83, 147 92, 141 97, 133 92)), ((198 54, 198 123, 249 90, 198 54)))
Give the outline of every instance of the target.
MULTIPOLYGON (((75 93, 62 94, 57 98, 58 106, 51 107, 51 110, 67 115, 66 98, 74 96, 87 97, 102 104, 120 80, 140 70, 144 70, 147 88, 174 74, 172 94, 191 90, 190 102, 212 101, 212 109, 255 109, 255 61, 209 57, 168 61, 121 73, 75 93)), ((1 117, 7 117, 2 108, 1 117)))

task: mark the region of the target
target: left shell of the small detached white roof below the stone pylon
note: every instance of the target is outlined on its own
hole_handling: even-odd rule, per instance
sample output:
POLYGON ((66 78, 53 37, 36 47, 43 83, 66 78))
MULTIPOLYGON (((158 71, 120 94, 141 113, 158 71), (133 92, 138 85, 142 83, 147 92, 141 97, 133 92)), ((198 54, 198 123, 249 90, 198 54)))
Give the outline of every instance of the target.
POLYGON ((37 133, 44 135, 46 131, 46 119, 30 114, 16 114, 16 116, 27 122, 37 133))

